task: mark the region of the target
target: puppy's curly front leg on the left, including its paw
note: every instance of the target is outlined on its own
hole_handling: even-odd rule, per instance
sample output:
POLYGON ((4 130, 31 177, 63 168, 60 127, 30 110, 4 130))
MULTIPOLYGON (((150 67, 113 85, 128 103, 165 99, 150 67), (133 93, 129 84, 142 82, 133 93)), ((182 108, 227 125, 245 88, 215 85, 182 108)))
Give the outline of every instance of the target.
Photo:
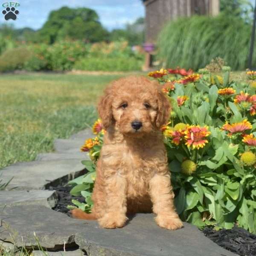
POLYGON ((105 214, 99 218, 99 225, 105 228, 123 227, 126 217, 126 187, 125 178, 114 174, 106 180, 106 205, 105 214))

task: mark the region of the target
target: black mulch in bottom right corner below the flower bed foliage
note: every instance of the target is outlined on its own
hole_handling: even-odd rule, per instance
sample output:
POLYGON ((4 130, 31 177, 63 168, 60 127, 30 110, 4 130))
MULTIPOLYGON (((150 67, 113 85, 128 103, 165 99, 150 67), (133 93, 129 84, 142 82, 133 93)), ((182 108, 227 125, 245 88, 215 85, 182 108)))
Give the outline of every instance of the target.
POLYGON ((256 235, 241 227, 218 231, 206 227, 203 233, 216 244, 233 253, 240 256, 256 256, 256 235))

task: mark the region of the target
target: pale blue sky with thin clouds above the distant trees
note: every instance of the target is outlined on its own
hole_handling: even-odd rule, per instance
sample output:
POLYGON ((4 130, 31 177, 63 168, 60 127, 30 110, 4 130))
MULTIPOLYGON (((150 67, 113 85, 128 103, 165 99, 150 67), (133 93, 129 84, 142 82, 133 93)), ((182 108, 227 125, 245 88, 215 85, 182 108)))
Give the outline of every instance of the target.
MULTIPOLYGON (((0 7, 7 0, 0 0, 0 7)), ((87 7, 94 9, 102 25, 108 30, 123 28, 126 23, 135 21, 138 17, 144 17, 144 6, 141 0, 12 0, 20 3, 17 8, 20 11, 17 20, 4 19, 0 16, 0 23, 13 24, 16 28, 31 27, 39 29, 47 20, 49 12, 62 6, 87 7)))

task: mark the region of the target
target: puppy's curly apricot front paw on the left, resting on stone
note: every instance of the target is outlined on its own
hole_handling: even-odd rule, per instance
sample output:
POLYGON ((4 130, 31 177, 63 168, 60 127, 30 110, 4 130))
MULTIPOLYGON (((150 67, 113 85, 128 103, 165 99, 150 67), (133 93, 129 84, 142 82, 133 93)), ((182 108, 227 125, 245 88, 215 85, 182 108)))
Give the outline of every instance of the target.
POLYGON ((99 225, 104 228, 123 227, 128 218, 123 214, 105 214, 99 218, 99 225))

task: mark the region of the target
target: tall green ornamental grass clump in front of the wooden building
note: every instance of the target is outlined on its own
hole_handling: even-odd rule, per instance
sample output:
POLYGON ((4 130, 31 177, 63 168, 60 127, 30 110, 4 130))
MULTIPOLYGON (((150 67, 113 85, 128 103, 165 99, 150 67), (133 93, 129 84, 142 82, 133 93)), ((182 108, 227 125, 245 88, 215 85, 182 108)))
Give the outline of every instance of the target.
POLYGON ((250 35, 251 26, 240 17, 183 17, 167 23, 160 32, 158 57, 166 67, 180 65, 194 70, 221 57, 234 70, 244 70, 250 35))

